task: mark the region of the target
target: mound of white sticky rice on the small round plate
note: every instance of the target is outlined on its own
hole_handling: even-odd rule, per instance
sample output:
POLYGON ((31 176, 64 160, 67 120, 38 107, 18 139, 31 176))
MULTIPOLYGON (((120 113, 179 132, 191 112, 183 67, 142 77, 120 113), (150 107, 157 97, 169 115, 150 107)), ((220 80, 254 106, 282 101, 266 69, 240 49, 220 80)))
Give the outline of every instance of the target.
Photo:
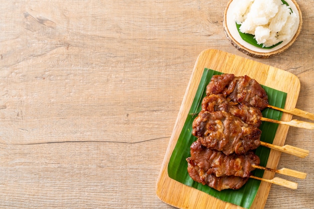
POLYGON ((233 16, 240 31, 254 35, 258 44, 272 46, 290 39, 297 30, 297 15, 281 0, 234 0, 233 16))

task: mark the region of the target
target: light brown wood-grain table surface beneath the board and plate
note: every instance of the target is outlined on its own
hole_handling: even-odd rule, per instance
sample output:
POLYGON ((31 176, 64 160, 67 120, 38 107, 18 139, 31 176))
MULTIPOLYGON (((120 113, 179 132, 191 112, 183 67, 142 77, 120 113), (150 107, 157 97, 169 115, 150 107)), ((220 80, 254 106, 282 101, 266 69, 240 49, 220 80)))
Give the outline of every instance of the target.
MULTIPOLYGON (((228 0, 1 0, 0 208, 173 208, 155 184, 199 53, 216 48, 299 78, 314 112, 314 1, 296 42, 256 59, 222 26, 228 0)), ((297 116, 293 118, 301 119, 297 116)), ((308 121, 304 119, 305 121, 308 121)), ((313 131, 290 127, 265 208, 312 208, 313 131)))

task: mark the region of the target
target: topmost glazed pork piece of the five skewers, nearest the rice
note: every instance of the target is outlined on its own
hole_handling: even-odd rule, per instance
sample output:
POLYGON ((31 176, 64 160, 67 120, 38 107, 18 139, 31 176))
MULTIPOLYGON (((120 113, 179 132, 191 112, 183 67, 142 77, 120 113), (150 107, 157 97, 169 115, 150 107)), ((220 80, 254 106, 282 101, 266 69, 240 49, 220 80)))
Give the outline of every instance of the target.
POLYGON ((266 91, 256 80, 247 75, 239 77, 234 74, 213 75, 206 87, 206 94, 219 93, 233 102, 247 102, 260 110, 268 105, 266 91))

